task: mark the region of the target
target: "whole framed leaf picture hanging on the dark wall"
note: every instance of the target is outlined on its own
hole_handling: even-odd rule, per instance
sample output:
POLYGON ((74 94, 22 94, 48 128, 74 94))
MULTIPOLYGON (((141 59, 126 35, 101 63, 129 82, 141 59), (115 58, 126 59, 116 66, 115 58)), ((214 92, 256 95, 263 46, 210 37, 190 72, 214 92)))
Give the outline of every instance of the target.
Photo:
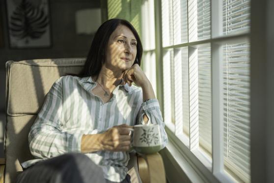
POLYGON ((6 0, 11 48, 51 46, 48 0, 6 0))

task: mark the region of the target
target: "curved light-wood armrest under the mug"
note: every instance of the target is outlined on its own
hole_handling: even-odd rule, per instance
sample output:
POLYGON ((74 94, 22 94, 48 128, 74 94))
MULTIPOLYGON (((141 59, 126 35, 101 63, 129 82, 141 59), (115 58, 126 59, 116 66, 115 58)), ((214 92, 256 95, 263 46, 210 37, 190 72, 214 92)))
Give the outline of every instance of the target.
POLYGON ((164 162, 159 153, 138 156, 138 171, 142 183, 166 183, 164 162))

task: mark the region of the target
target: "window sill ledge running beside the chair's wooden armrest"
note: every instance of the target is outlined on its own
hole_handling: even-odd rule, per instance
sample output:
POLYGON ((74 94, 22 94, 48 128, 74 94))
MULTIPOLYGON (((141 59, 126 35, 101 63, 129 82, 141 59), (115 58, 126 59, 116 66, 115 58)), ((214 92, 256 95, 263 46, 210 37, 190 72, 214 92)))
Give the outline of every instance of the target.
MULTIPOLYGON (((211 173, 211 165, 205 166, 195 155, 198 152, 191 152, 181 140, 174 135, 166 125, 165 130, 169 143, 160 153, 164 159, 166 177, 170 183, 219 183, 219 180, 211 173)), ((172 126, 170 126, 172 127, 172 126)), ((200 153, 201 154, 201 153, 200 153)), ((205 159, 204 159, 205 160, 205 159)))

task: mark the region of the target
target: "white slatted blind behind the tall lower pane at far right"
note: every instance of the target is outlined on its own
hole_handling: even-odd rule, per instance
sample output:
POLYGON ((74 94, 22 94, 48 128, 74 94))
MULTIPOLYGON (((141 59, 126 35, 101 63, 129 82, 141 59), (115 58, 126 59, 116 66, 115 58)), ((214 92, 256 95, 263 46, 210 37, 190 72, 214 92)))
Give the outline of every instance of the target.
POLYGON ((249 45, 224 47, 224 165, 244 182, 250 181, 249 45))

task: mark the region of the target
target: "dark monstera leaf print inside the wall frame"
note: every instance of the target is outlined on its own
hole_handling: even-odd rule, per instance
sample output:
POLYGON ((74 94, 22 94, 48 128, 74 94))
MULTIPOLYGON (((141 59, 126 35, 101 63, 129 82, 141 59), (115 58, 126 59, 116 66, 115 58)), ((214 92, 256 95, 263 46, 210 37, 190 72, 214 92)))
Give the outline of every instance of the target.
MULTIPOLYGON (((47 3, 43 5, 45 4, 47 5, 47 3)), ((43 42, 50 41, 45 39, 45 35, 49 34, 49 18, 44 6, 34 5, 29 0, 21 0, 19 4, 12 5, 14 9, 9 16, 9 33, 12 44, 20 43, 25 47, 39 46, 39 44, 42 46, 45 45, 43 42)), ((50 39, 49 35, 46 37, 50 39)))

